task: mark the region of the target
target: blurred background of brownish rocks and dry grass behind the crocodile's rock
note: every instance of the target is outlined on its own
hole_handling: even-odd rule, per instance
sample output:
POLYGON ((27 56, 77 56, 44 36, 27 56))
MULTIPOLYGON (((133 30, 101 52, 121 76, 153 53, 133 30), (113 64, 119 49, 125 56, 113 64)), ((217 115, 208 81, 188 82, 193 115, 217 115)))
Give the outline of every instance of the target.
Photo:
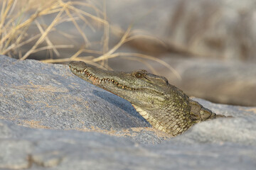
POLYGON ((256 1, 0 0, 0 54, 146 69, 188 96, 256 106, 256 1))

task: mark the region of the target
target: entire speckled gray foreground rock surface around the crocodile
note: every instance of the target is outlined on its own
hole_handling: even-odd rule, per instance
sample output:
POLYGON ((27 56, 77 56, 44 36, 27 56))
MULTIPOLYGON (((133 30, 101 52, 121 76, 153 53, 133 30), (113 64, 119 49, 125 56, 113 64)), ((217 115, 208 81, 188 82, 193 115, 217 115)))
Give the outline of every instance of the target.
POLYGON ((169 137, 65 65, 0 57, 0 169, 255 169, 256 108, 169 137))

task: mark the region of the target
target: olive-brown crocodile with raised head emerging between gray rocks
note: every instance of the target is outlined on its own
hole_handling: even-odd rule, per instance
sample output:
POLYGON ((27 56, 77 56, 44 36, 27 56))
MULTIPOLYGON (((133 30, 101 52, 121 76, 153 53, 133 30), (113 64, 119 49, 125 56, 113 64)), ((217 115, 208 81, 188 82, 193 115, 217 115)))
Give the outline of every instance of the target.
POLYGON ((130 103, 153 128, 172 136, 217 115, 189 98, 181 89, 169 84, 165 77, 137 70, 115 72, 85 62, 70 62, 71 72, 85 81, 120 96, 130 103))

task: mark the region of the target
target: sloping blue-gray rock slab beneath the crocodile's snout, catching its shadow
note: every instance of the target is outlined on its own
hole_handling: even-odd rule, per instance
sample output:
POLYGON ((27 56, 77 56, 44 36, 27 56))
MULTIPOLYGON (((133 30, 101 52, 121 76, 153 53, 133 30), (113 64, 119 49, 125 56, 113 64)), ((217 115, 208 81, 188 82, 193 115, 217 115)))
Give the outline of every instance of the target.
POLYGON ((32 128, 149 126, 129 102, 74 77, 66 65, 1 56, 1 112, 32 128))

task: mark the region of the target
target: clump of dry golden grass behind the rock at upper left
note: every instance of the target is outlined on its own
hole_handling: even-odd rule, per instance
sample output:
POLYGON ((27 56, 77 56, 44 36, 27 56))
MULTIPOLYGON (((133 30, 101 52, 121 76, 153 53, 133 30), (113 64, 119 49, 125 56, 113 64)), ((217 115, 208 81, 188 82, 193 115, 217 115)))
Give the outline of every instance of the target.
MULTIPOLYGON (((41 60, 42 62, 70 62, 70 61, 84 61, 90 62, 100 67, 107 66, 107 61, 113 57, 125 57, 128 60, 137 60, 144 62, 144 59, 154 60, 163 64, 165 67, 171 69, 171 72, 176 74, 180 79, 179 74, 156 57, 142 55, 137 53, 117 52, 119 47, 124 43, 134 40, 135 38, 150 38, 147 35, 134 35, 132 34, 132 26, 127 28, 126 31, 119 30, 122 33, 122 38, 119 42, 109 49, 110 39, 110 24, 107 22, 106 3, 102 0, 102 4, 97 4, 99 1, 64 1, 64 0, 0 0, 1 7, 1 20, 0 20, 0 54, 8 55, 9 57, 18 57, 20 60, 26 60, 36 52, 47 51, 50 54, 50 59, 41 60), (26 4, 26 5, 24 5, 26 4), (82 8, 90 9, 90 12, 82 10, 82 8), (43 17, 55 16, 50 23, 44 24, 43 17), (101 49, 90 49, 93 42, 87 38, 78 22, 83 22, 92 31, 96 31, 95 26, 103 26, 102 42, 100 42, 101 49), (61 49, 73 49, 74 45, 56 45, 50 38, 50 32, 57 30, 57 26, 61 23, 69 22, 73 24, 75 30, 78 31, 80 37, 85 45, 82 45, 73 55, 68 58, 60 58, 61 49), (28 28, 36 26, 38 33, 31 36, 28 28), (22 52, 25 45, 32 44, 26 52, 22 52), (94 56, 83 56, 85 52, 93 54, 94 56), (57 56, 53 57, 53 56, 57 56)), ((72 38, 69 33, 62 33, 64 37, 72 38)), ((155 38, 153 38, 155 39, 155 38)), ((156 40, 156 39, 155 39, 156 40)), ((159 41, 159 43, 161 43, 159 41)), ((146 64, 152 72, 154 69, 146 64)))

